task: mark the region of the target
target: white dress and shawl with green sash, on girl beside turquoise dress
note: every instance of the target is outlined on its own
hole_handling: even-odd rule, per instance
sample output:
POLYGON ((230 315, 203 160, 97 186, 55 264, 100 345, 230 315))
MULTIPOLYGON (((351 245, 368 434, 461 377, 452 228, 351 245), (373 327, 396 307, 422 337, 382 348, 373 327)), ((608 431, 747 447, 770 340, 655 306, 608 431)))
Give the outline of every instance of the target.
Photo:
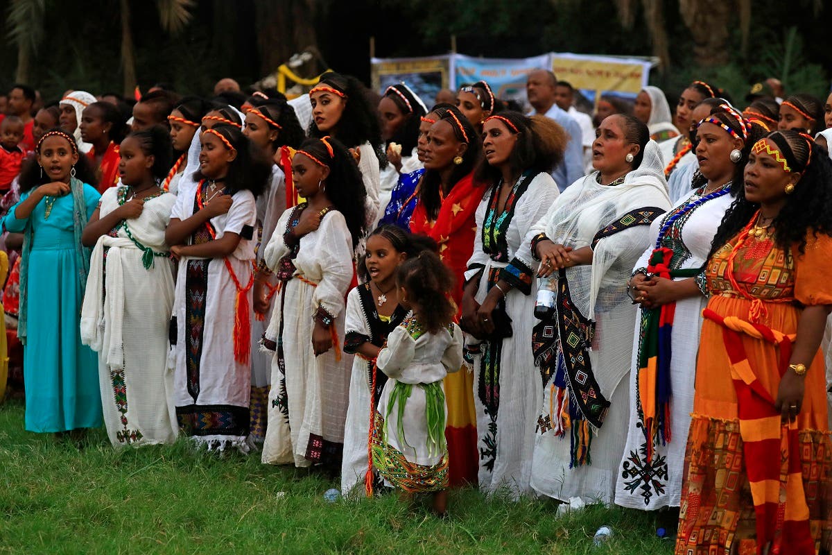
MULTIPOLYGON (((104 191, 101 217, 118 208, 120 189, 104 191)), ((156 252, 166 252, 165 230, 175 201, 169 193, 146 201, 141 216, 127 221, 133 237, 156 252)), ((116 447, 170 444, 178 430, 166 364, 173 263, 155 256, 146 269, 141 256, 123 228, 117 237, 102 235, 92 250, 82 307, 82 342, 98 353, 104 423, 116 447), (129 439, 131 434, 136 434, 135 441, 129 439)))

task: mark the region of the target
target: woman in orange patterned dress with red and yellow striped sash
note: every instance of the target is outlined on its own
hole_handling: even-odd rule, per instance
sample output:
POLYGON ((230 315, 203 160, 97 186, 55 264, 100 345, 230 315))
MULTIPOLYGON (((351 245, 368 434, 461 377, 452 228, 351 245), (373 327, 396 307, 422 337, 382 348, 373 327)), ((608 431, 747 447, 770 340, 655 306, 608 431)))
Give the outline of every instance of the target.
POLYGON ((678 554, 829 553, 832 167, 815 150, 796 131, 757 141, 716 233, 678 554))

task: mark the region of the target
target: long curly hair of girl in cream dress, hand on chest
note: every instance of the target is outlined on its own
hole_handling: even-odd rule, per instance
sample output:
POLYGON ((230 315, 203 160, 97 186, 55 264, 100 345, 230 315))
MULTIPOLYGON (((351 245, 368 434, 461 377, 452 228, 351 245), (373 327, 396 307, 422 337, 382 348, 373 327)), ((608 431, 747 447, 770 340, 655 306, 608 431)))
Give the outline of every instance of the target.
POLYGON ((324 138, 329 146, 332 146, 331 155, 324 141, 318 138, 306 139, 298 150, 309 152, 329 167, 325 194, 335 210, 344 216, 349 234, 352 235, 353 248, 355 248, 366 231, 367 191, 364 189, 359 166, 356 165, 355 158, 349 153, 347 147, 334 137, 324 138))

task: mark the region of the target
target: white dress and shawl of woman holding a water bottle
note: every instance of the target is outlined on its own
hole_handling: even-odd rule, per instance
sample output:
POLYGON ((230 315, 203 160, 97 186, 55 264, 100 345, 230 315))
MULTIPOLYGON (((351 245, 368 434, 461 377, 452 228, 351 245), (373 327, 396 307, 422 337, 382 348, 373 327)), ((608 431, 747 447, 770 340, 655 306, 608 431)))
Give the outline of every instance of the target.
POLYGON ((593 250, 592 264, 548 281, 558 293, 557 317, 536 326, 537 360, 552 352, 557 360, 542 365, 532 460, 532 488, 541 495, 612 502, 630 414, 626 377, 636 308, 626 284, 648 242, 644 224, 671 206, 663 170, 658 147, 649 141, 635 170, 607 186, 597 172, 576 181, 531 232, 593 250), (559 334, 565 335, 558 344, 559 334))

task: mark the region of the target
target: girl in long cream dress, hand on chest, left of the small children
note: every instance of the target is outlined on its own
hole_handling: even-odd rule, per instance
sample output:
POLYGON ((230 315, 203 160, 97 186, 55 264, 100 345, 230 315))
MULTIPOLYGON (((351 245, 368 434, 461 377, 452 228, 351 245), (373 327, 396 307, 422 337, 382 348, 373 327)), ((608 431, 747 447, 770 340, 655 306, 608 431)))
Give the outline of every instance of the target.
POLYGON ((337 472, 351 364, 341 359, 338 338, 354 249, 364 236, 364 186, 349 151, 330 137, 304 142, 292 177, 306 202, 284 212, 277 229, 285 232, 265 248, 280 294, 264 337, 275 354, 263 462, 337 472))

